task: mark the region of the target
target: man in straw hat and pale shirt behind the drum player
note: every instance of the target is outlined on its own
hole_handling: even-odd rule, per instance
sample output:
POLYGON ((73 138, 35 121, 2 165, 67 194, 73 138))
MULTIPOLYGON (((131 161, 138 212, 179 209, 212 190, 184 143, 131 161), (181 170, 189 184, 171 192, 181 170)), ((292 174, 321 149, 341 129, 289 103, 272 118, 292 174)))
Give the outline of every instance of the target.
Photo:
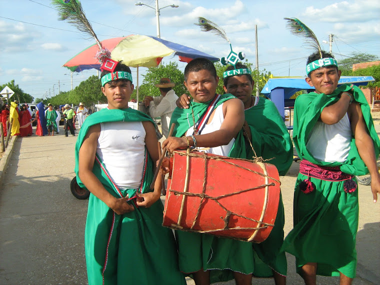
POLYGON ((159 88, 161 95, 154 98, 146 96, 144 103, 146 107, 149 107, 151 117, 161 117, 162 134, 167 137, 171 114, 176 107, 175 101, 178 99, 178 96, 172 89, 175 83, 170 78, 161 78, 155 86, 159 88))

